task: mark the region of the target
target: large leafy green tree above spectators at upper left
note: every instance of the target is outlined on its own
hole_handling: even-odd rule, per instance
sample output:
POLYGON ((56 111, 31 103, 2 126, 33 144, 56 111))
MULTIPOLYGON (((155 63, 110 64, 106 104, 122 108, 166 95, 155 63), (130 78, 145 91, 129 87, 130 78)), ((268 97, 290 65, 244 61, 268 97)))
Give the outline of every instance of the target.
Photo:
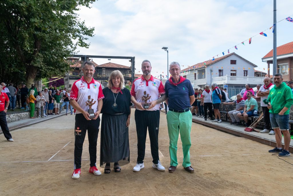
POLYGON ((94 1, 1 0, 0 38, 5 42, 0 58, 10 58, 0 61, 1 67, 7 72, 13 68, 18 77, 25 75, 28 86, 35 79, 65 73, 69 70, 66 57, 77 46, 88 48, 86 40, 93 36, 94 28, 86 27, 76 11, 94 1))

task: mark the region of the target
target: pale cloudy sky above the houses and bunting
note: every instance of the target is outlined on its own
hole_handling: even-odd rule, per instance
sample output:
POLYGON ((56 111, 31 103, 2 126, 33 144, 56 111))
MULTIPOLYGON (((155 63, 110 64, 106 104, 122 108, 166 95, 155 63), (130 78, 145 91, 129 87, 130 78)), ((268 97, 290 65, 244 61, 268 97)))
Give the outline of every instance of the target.
MULTIPOLYGON (((293 1, 277 1, 277 21, 293 15, 292 7, 293 1)), ((165 46, 169 64, 178 61, 181 69, 220 57, 231 48, 264 71, 267 64, 261 58, 273 45, 272 31, 264 31, 273 23, 273 0, 99 0, 91 9, 81 8, 79 15, 87 26, 95 27, 95 36, 88 40, 91 46, 79 48, 78 54, 135 56, 135 73, 148 59, 154 76, 166 75, 167 53, 161 49, 165 46), (258 34, 262 31, 268 37, 258 34), (238 45, 236 51, 234 46, 242 41, 245 46, 238 45)), ((277 46, 293 41, 292 33, 293 22, 277 23, 277 46)), ((130 66, 128 60, 111 62, 130 66)))

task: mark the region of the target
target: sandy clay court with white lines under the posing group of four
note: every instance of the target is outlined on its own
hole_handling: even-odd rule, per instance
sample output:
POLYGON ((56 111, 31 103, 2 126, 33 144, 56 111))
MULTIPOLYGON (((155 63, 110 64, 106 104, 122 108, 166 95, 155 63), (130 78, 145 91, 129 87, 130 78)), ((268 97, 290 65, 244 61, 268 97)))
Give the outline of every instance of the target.
MULTIPOLYGON (((160 161, 152 168, 147 138, 145 168, 133 172, 137 136, 132 109, 129 129, 130 164, 120 173, 95 176, 88 172, 88 140, 84 143, 81 176, 71 178, 74 152, 74 115, 60 116, 11 132, 14 142, 0 139, 0 195, 292 195, 293 166, 268 153, 272 147, 193 123, 190 150, 194 173, 181 166, 169 173, 169 139, 165 113, 159 128, 160 161)), ((100 135, 100 134, 99 134, 100 135)), ((99 136, 100 137, 100 136, 99 136)), ((98 141, 100 138, 98 138, 98 141)), ((99 159, 100 144, 97 157, 99 159)), ((282 158, 293 164, 293 155, 282 158)))

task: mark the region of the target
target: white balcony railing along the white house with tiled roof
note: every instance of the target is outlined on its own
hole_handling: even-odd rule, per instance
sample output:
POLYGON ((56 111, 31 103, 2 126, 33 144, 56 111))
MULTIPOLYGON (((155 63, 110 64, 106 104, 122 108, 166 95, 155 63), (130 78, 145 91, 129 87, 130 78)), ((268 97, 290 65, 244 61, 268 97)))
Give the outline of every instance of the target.
POLYGON ((212 78, 212 82, 217 84, 262 84, 263 77, 221 76, 212 78))

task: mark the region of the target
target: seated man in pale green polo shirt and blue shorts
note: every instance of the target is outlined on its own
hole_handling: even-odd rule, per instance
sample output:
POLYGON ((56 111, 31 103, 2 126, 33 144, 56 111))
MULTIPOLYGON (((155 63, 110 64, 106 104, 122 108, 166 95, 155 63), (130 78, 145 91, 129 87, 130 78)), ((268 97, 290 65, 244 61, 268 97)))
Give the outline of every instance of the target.
POLYGON ((246 122, 246 127, 249 127, 248 116, 257 116, 258 105, 250 91, 246 92, 246 96, 247 99, 245 101, 244 110, 238 113, 237 116, 246 122))

